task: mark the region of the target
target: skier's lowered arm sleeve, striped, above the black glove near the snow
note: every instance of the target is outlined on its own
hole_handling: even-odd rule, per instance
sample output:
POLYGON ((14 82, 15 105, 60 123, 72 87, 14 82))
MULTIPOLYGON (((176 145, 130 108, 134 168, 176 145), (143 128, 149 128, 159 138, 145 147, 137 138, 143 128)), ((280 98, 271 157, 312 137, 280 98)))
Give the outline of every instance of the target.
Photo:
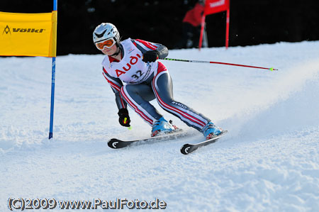
POLYGON ((122 108, 127 108, 126 102, 121 97, 121 87, 123 87, 123 83, 121 79, 118 79, 116 77, 111 77, 108 72, 106 72, 106 69, 103 68, 103 76, 105 77, 108 84, 110 84, 112 91, 114 92, 116 96, 116 105, 118 106, 118 110, 121 110, 122 108))

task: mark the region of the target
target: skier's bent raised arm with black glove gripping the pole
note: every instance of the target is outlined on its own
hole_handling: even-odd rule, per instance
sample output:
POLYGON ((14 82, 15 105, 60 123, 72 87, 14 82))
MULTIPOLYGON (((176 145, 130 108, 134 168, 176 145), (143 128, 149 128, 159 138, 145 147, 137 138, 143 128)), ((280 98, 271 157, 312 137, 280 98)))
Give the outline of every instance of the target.
POLYGON ((162 44, 140 39, 132 40, 132 42, 142 52, 145 62, 155 62, 155 60, 164 59, 168 55, 167 47, 162 44))

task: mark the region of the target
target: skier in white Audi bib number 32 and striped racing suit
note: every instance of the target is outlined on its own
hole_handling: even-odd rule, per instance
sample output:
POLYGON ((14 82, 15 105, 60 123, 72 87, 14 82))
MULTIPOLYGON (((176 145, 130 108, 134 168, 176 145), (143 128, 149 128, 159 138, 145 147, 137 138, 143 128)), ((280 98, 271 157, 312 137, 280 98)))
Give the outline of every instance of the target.
POLYGON ((176 130, 177 127, 150 104, 156 98, 165 111, 199 130, 206 139, 222 132, 210 119, 173 99, 172 79, 167 68, 157 60, 168 55, 164 45, 131 38, 121 41, 120 33, 112 23, 97 26, 93 41, 96 48, 106 55, 102 62, 103 76, 115 93, 121 125, 130 127, 128 104, 152 126, 151 136, 176 130))

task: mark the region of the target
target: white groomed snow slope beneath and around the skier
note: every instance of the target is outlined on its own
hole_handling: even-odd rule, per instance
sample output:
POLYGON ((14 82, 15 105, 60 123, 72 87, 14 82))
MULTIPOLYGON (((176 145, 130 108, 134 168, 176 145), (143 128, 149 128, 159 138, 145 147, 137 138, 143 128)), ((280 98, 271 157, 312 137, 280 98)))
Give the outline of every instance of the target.
POLYGON ((9 211, 9 198, 159 199, 165 211, 319 211, 319 42, 171 50, 169 57, 279 71, 162 61, 174 98, 229 130, 218 143, 181 155, 181 145, 203 136, 156 101, 195 135, 107 147, 108 138, 147 138, 150 126, 132 110, 132 130, 118 124, 103 55, 57 57, 50 141, 51 59, 0 57, 0 211, 9 211))

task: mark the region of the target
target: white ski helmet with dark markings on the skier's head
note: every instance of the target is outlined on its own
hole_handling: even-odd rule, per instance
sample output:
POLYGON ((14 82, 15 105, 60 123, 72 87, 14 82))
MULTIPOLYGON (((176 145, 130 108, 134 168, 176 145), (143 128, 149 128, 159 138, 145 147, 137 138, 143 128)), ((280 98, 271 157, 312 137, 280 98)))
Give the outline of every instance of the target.
POLYGON ((108 38, 114 38, 116 43, 120 40, 120 33, 118 29, 112 23, 101 23, 99 26, 96 26, 93 32, 93 42, 99 43, 108 38))

